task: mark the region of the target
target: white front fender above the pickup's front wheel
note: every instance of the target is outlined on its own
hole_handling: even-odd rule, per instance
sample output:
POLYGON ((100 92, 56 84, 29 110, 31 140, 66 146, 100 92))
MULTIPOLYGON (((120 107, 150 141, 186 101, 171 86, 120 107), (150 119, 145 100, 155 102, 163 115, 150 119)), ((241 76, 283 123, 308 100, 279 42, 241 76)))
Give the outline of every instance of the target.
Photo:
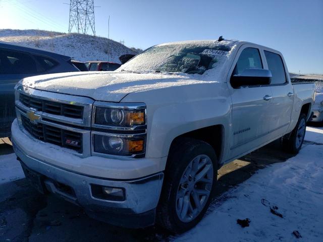
POLYGON ((223 125, 229 132, 231 98, 226 83, 131 93, 122 101, 139 100, 147 105, 147 158, 167 156, 172 141, 190 131, 223 125))

